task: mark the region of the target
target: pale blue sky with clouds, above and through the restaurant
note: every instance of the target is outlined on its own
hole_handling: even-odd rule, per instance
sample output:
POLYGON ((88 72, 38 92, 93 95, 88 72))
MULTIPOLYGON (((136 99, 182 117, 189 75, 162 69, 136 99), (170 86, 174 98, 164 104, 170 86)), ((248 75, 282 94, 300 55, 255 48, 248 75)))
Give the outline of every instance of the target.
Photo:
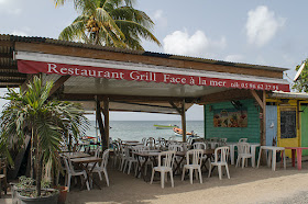
MULTIPOLYGON (((135 0, 135 8, 151 16, 162 43, 144 42, 145 50, 288 68, 289 82, 308 56, 307 0, 135 0)), ((69 0, 58 8, 53 0, 0 0, 0 33, 57 38, 77 15, 69 0)), ((202 117, 202 106, 187 112, 187 120, 202 117)), ((180 117, 111 113, 110 120, 180 117)))

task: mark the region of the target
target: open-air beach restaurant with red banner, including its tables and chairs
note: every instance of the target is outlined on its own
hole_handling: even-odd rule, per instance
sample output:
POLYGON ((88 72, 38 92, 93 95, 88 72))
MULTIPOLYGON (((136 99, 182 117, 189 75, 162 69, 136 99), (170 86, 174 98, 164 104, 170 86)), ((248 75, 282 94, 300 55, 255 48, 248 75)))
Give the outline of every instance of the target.
MULTIPOLYGON (((35 76, 40 76, 43 83, 54 81, 50 92, 51 99, 78 102, 86 111, 96 111, 100 143, 105 150, 102 156, 99 156, 101 148, 91 152, 95 157, 86 149, 85 152, 61 152, 67 177, 77 175, 70 172, 69 169, 73 168, 70 162, 79 163, 84 168, 84 184, 87 184, 88 190, 91 189, 90 182, 100 189, 96 180, 90 180, 94 171, 105 173, 109 185, 106 166, 110 151, 110 111, 182 116, 183 143, 173 144, 172 140, 162 138, 157 138, 156 143, 148 135, 142 144, 121 140, 112 144, 113 167, 118 161, 119 169, 123 172, 128 169, 130 173, 133 165, 136 178, 141 175, 147 180, 143 170, 146 169, 147 161, 153 158, 152 167, 156 167, 152 168, 151 183, 154 171, 165 174, 166 169, 170 174, 172 186, 174 186, 173 171, 180 174, 183 169, 182 180, 184 180, 186 170, 190 171, 196 167, 194 163, 189 166, 188 154, 193 154, 194 156, 190 156, 194 158, 198 157, 194 162, 205 160, 202 166, 199 163, 197 167, 200 183, 202 183, 201 169, 206 168, 210 177, 212 166, 220 166, 218 167, 220 179, 221 166, 226 166, 230 179, 227 160, 230 150, 231 165, 234 165, 235 147, 239 152, 238 161, 242 159, 242 168, 249 158, 252 167, 256 167, 256 147, 260 147, 257 167, 262 160, 261 156, 263 160, 265 159, 265 154, 262 154, 265 150, 273 151, 272 161, 276 161, 276 151, 285 151, 285 148, 266 144, 266 133, 268 133, 266 110, 271 103, 267 98, 277 91, 289 92, 289 83, 283 79, 285 70, 287 69, 279 67, 120 49, 44 37, 0 35, 0 88, 20 87, 21 90, 26 90, 26 84, 35 76), (189 143, 185 141, 187 139, 186 111, 194 104, 205 107, 205 135, 201 138, 202 143, 193 141, 193 144, 191 138, 189 143), (249 144, 245 143, 248 140, 249 144), (251 149, 251 152, 245 154, 244 149, 251 149), (175 162, 173 166, 170 158, 175 158, 175 155, 177 159, 173 159, 175 162), (168 168, 161 168, 161 156, 165 156, 164 163, 168 163, 168 168), (185 158, 187 165, 182 166, 185 158), (217 159, 223 161, 216 162, 217 159), (94 163, 90 170, 89 163, 94 163), (100 163, 99 169, 95 168, 97 163, 100 163), (206 163, 209 167, 206 167, 206 163)), ((12 178, 18 175, 21 162, 26 157, 25 149, 16 156, 12 178)), ((293 157, 293 165, 294 159, 295 157, 293 157)), ((300 169, 301 160, 298 163, 300 169)), ((286 168, 285 157, 284 167, 286 168)), ((275 169, 276 162, 272 162, 272 170, 275 169)), ((78 175, 82 177, 82 174, 78 175)), ((66 183, 68 189, 69 181, 66 183)), ((161 183, 164 188, 163 175, 161 183)), ((190 183, 193 183, 193 173, 190 173, 190 183)))

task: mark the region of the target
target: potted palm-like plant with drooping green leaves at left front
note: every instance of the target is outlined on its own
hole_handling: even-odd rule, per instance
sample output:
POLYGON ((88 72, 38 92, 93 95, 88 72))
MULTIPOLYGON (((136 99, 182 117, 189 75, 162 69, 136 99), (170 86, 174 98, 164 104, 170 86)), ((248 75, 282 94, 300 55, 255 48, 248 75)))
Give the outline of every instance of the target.
POLYGON ((88 127, 88 120, 79 104, 48 99, 52 88, 52 81, 43 86, 41 78, 34 77, 28 83, 26 91, 9 89, 3 98, 9 103, 4 105, 1 115, 1 143, 21 147, 25 129, 30 131, 37 196, 41 195, 43 165, 50 160, 58 161, 57 154, 61 144, 65 143, 65 135, 70 134, 77 138, 88 127))

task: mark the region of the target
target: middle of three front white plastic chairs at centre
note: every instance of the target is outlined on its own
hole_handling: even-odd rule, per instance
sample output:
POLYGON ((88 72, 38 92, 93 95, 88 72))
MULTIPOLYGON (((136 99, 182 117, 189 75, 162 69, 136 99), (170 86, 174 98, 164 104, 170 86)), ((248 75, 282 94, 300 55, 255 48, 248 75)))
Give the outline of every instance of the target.
MULTIPOLYGON (((202 155, 204 155, 204 150, 201 150, 201 149, 191 149, 186 152, 187 163, 183 168, 182 181, 184 181, 186 170, 189 170, 190 183, 193 184, 194 170, 198 170, 199 180, 200 180, 200 183, 202 183, 202 174, 201 174, 202 155), (190 159, 190 156, 193 156, 191 159, 190 159)), ((196 171, 196 179, 198 179, 197 171, 196 171)))

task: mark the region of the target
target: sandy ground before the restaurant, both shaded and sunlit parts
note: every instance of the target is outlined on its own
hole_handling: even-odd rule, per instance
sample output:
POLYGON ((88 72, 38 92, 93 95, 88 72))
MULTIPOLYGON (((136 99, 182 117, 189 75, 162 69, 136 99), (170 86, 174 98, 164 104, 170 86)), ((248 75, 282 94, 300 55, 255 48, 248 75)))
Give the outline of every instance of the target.
MULTIPOLYGON (((229 168, 230 180, 227 175, 219 180, 215 170, 211 178, 206 172, 202 174, 202 184, 196 180, 190 184, 188 177, 180 181, 180 175, 175 175, 175 188, 168 180, 165 189, 161 189, 158 174, 150 184, 111 168, 109 188, 105 180, 99 182, 101 190, 95 186, 91 191, 80 191, 73 186, 66 203, 308 203, 307 161, 302 162, 301 171, 293 168, 290 160, 286 170, 278 165, 275 172, 267 167, 229 168)), ((11 200, 2 199, 0 203, 11 203, 11 200)))

